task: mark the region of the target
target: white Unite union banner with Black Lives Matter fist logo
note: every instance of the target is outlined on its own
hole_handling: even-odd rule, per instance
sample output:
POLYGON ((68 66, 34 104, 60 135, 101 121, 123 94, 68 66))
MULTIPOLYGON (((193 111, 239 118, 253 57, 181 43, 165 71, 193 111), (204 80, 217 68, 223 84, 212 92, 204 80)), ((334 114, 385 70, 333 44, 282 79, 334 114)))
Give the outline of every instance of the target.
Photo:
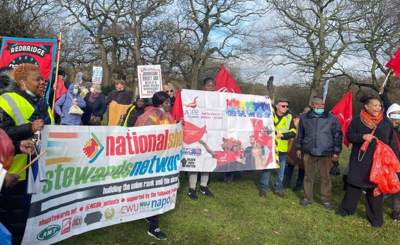
POLYGON ((181 91, 182 171, 230 172, 279 167, 269 99, 199 90, 181 91))

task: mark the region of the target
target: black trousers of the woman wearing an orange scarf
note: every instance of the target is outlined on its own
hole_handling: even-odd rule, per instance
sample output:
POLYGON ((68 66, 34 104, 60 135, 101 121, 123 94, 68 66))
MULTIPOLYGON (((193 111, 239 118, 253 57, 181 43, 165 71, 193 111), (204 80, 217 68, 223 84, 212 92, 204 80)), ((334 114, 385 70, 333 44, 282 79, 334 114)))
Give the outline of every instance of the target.
MULTIPOLYGON (((373 227, 381 227, 384 224, 383 217, 383 201, 384 195, 378 195, 374 197, 374 188, 367 188, 366 197, 366 211, 368 220, 371 222, 373 227)), ((346 192, 342 202, 340 203, 339 210, 336 212, 337 215, 347 216, 352 215, 356 212, 358 201, 360 200, 362 188, 347 184, 346 192)))

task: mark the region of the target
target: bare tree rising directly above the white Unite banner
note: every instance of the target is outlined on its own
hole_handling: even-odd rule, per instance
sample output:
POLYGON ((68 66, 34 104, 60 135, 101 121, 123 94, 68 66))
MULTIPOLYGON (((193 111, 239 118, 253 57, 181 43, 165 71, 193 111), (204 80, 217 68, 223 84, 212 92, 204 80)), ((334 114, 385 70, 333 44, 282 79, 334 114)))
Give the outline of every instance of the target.
POLYGON ((191 89, 197 89, 198 74, 213 55, 239 56, 238 47, 251 31, 251 21, 266 12, 260 1, 251 0, 182 0, 180 7, 182 28, 191 43, 191 89), (214 42, 210 42, 212 34, 214 42))

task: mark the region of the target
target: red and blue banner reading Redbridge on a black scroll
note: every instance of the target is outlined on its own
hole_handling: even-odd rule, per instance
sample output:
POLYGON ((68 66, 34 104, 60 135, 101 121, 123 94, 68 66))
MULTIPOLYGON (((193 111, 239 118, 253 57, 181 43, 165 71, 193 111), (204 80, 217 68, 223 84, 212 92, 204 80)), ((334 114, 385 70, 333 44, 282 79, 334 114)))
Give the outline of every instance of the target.
POLYGON ((0 67, 9 66, 15 69, 25 63, 37 65, 43 80, 51 81, 56 51, 56 39, 22 39, 3 36, 0 67))

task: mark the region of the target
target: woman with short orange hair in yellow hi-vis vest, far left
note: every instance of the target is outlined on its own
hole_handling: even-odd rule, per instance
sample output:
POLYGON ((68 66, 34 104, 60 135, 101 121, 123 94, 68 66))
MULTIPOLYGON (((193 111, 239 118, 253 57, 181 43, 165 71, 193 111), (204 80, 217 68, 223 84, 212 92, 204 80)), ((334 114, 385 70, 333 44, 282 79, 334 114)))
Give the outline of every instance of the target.
MULTIPOLYGON (((14 81, 0 81, 0 128, 14 141, 30 139, 45 124, 53 124, 51 110, 43 99, 45 82, 38 66, 22 64, 15 68, 14 81), (5 83, 8 82, 8 86, 5 83), (47 113, 46 113, 47 111, 47 113)), ((16 174, 27 163, 27 155, 17 155, 8 173, 16 174)), ((26 173, 0 195, 0 222, 12 234, 12 243, 20 244, 25 232, 30 197, 26 194, 26 173)))

